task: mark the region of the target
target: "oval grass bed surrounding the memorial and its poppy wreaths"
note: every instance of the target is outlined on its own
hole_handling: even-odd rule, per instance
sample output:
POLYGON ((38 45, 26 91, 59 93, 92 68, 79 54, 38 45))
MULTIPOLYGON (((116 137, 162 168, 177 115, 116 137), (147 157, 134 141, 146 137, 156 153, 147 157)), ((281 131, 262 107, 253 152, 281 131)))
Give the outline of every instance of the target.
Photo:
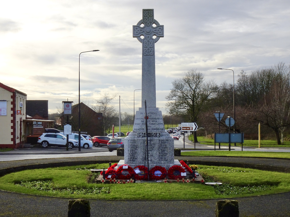
POLYGON ((290 191, 289 173, 198 165, 206 182, 96 184, 90 169, 109 164, 23 170, 0 177, 0 189, 24 194, 102 200, 195 200, 258 196, 290 191))

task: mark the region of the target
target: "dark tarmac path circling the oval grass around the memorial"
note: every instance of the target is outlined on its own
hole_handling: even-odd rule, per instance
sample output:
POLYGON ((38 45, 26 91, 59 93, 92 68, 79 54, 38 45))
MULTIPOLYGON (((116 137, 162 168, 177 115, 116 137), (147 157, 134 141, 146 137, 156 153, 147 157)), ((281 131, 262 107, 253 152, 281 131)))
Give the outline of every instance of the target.
MULTIPOLYGON (((122 157, 75 157, 35 159, 22 161, 0 162, 1 172, 7 168, 28 168, 30 165, 72 164, 79 162, 111 161, 117 162, 122 157)), ((189 160, 191 163, 214 165, 244 165, 245 167, 284 169, 290 171, 290 160, 268 158, 242 157, 176 157, 179 160, 189 160)), ((290 174, 289 174, 290 178, 290 174)), ((194 194, 194 192, 192 192, 194 194)), ((231 198, 233 199, 233 198, 231 198)), ((53 198, 32 196, 0 190, 0 216, 67 216, 68 198, 53 198)), ((258 197, 234 198, 239 202, 240 216, 266 217, 290 216, 290 192, 264 195, 258 197)), ((189 200, 189 201, 105 201, 90 200, 91 216, 215 216, 215 203, 218 200, 189 200)))

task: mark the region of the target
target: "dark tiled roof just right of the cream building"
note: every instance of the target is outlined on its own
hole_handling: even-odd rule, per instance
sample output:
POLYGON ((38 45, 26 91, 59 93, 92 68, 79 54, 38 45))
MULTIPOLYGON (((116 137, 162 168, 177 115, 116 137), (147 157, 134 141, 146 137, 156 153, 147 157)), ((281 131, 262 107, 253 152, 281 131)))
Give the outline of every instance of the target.
POLYGON ((48 117, 48 100, 27 100, 26 114, 31 117, 35 114, 39 114, 42 117, 48 117))

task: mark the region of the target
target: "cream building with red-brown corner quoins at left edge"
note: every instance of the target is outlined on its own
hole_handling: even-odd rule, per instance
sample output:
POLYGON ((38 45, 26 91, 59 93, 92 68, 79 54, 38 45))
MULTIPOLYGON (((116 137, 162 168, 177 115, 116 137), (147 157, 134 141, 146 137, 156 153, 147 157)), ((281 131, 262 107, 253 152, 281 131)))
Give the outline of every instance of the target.
POLYGON ((27 94, 0 83, 0 148, 18 148, 24 139, 27 94))

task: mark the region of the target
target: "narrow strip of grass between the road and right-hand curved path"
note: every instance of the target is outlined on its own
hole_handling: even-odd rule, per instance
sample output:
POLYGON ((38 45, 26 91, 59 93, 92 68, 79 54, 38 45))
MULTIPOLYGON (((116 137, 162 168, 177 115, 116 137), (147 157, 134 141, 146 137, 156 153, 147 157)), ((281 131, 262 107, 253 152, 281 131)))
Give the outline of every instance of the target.
POLYGON ((226 150, 187 151, 187 152, 181 152, 181 155, 185 155, 185 156, 236 156, 236 157, 290 158, 290 152, 226 151, 226 150))

